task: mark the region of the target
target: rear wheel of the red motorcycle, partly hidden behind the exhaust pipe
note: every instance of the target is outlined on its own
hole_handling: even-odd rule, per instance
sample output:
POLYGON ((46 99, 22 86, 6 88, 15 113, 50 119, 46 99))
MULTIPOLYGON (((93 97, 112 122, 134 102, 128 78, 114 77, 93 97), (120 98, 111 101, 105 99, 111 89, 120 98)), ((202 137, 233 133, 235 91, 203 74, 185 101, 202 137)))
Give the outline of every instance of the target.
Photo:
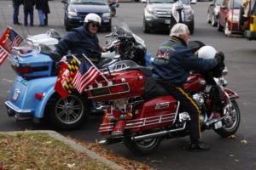
POLYGON ((125 137, 124 144, 128 150, 137 156, 146 156, 158 149, 161 138, 143 139, 132 141, 131 137, 125 137))

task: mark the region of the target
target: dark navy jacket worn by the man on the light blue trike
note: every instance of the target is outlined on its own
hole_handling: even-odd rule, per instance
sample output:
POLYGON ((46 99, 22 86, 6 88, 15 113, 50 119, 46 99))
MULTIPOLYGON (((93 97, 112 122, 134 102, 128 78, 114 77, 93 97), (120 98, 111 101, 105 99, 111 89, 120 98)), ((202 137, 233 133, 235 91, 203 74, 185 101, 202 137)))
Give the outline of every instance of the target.
POLYGON ((81 54, 85 54, 95 63, 98 63, 102 56, 98 37, 88 32, 84 26, 68 31, 56 45, 56 52, 61 56, 67 54, 69 50, 79 58, 83 57, 81 54))

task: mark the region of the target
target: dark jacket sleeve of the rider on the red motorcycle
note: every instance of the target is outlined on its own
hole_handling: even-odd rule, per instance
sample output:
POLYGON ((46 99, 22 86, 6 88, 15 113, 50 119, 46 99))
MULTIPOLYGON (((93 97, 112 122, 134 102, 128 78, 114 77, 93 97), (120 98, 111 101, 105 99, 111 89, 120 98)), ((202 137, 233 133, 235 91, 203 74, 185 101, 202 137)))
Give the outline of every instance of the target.
POLYGON ((208 71, 217 65, 215 59, 198 58, 190 51, 183 54, 182 63, 184 68, 194 71, 208 71))

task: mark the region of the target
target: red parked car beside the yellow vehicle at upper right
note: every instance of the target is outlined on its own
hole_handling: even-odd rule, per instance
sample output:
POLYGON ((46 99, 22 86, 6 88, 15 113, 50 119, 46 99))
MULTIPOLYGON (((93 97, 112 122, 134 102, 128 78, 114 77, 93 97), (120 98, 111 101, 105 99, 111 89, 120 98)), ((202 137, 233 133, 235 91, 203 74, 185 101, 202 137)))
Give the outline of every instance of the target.
POLYGON ((226 36, 242 33, 239 28, 241 0, 224 0, 218 12, 218 31, 226 36))

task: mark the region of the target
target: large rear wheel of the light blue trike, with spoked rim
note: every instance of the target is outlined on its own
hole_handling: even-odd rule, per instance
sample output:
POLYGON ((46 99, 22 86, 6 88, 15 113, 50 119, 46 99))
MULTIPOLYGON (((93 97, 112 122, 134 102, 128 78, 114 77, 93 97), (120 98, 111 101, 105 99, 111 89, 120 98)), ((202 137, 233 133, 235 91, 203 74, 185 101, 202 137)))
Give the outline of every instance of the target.
POLYGON ((80 94, 69 94, 66 99, 55 95, 49 100, 47 116, 53 127, 60 130, 78 128, 88 119, 89 101, 80 94))

